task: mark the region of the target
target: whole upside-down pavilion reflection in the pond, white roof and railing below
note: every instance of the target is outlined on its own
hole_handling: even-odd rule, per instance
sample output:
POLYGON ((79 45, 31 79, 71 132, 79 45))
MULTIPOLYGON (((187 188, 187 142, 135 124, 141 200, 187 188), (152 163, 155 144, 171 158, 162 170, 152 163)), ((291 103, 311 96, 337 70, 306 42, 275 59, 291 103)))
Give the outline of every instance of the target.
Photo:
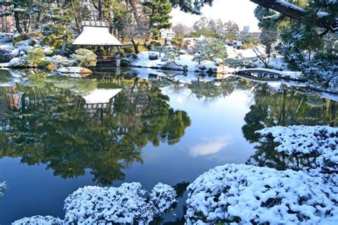
POLYGON ((98 109, 113 110, 113 101, 116 95, 121 92, 121 88, 112 89, 96 89, 83 95, 82 98, 85 100, 83 105, 86 111, 94 114, 98 109))

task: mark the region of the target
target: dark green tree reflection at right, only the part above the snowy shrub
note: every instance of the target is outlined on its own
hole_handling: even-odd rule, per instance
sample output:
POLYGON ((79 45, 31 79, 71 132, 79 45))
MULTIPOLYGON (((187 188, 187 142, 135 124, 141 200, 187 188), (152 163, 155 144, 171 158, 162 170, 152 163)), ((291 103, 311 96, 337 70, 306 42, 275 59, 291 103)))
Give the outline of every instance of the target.
POLYGON ((279 91, 271 90, 267 83, 255 86, 254 93, 254 104, 245 115, 246 124, 242 127, 249 142, 258 141, 255 131, 263 127, 334 124, 337 110, 332 110, 332 106, 335 108, 333 100, 318 99, 314 94, 300 93, 285 85, 279 91))

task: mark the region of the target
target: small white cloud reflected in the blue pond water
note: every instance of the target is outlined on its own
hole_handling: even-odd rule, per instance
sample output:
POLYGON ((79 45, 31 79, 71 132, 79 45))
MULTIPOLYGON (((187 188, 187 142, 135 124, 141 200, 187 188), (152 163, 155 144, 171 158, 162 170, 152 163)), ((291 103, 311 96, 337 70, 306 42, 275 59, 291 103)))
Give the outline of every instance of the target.
POLYGON ((226 137, 220 137, 214 140, 205 139, 205 142, 190 147, 190 155, 198 157, 215 154, 229 144, 228 140, 226 137))

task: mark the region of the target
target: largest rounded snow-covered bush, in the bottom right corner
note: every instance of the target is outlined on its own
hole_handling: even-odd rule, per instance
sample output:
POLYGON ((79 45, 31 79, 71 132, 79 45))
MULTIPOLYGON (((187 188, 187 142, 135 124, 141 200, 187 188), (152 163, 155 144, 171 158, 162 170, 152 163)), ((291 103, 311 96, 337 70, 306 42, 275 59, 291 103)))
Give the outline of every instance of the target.
POLYGON ((338 194, 305 172, 227 164, 190 184, 187 224, 318 224, 338 219, 338 194))

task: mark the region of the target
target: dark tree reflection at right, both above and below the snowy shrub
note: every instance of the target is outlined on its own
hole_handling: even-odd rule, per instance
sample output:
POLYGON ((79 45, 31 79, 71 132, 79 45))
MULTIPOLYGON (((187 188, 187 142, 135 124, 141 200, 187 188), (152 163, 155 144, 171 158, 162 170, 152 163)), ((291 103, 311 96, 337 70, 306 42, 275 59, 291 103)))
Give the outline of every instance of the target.
MULTIPOLYGON (((301 93, 282 86, 279 91, 271 90, 267 84, 254 89, 254 104, 245 115, 242 127, 244 137, 249 142, 258 142, 260 135, 255 133, 264 127, 276 125, 335 125, 337 114, 333 100, 319 98, 313 93, 301 93)), ((260 142, 256 152, 247 160, 247 164, 275 169, 301 169, 312 164, 311 156, 288 156, 275 151, 272 141, 260 142)))

